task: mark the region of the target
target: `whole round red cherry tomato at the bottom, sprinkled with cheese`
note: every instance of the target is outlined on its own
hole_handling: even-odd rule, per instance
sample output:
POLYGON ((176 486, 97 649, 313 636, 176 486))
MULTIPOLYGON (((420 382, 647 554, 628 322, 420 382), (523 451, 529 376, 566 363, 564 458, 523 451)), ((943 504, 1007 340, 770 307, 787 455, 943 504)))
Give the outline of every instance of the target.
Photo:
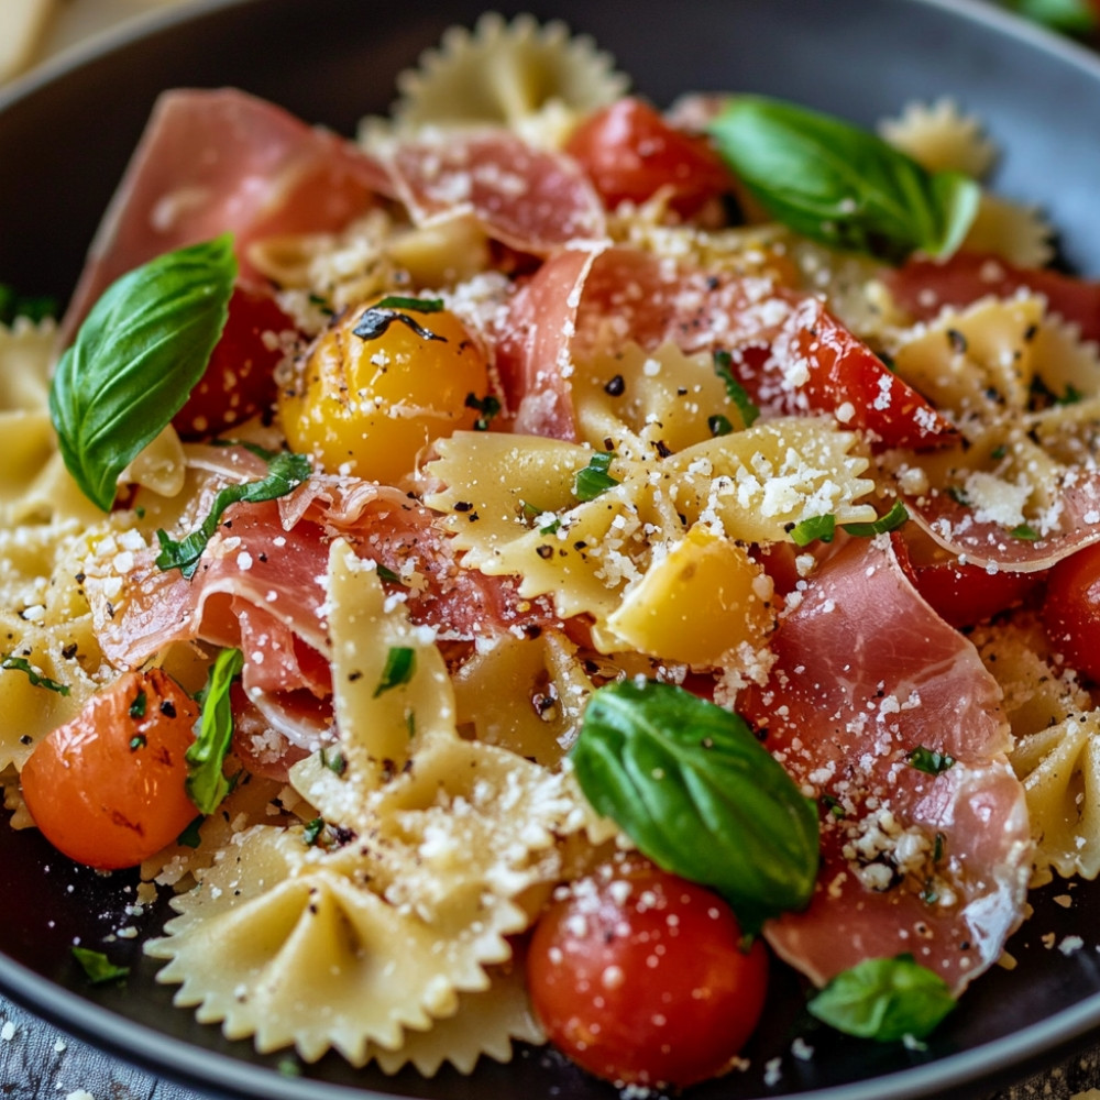
POLYGON ((551 902, 527 957, 551 1041, 627 1085, 686 1086, 726 1070, 763 1009, 768 957, 729 906, 642 860, 608 864, 551 902))

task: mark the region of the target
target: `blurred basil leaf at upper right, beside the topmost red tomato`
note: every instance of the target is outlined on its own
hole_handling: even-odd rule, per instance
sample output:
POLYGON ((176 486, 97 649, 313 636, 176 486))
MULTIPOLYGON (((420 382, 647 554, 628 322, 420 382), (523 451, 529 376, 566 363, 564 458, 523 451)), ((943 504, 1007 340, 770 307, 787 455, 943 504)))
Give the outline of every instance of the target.
POLYGON ((832 248, 948 256, 978 212, 972 179, 926 172, 875 134, 782 100, 734 97, 710 132, 773 218, 832 248))

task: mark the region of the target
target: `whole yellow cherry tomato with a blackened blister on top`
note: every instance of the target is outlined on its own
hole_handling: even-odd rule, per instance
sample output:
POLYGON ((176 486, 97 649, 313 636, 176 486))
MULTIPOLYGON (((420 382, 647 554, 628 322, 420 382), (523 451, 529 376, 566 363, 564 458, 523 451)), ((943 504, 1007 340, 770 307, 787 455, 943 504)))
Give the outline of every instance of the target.
POLYGON ((383 299, 318 337, 278 408, 292 450, 393 484, 432 440, 473 428, 487 389, 485 354, 453 312, 383 299))

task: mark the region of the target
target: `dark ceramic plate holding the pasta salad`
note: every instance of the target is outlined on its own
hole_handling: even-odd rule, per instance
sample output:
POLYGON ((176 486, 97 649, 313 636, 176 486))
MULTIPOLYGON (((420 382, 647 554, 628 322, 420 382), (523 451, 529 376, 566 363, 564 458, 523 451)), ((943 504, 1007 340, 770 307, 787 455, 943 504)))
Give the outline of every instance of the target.
MULTIPOLYGON (((398 12, 375 0, 199 3, 144 33, 55 64, 0 91, 0 282, 64 300, 155 94, 175 85, 233 84, 350 133, 384 111, 394 78, 452 23, 487 0, 431 0, 398 12)), ((1004 154, 999 188, 1038 201, 1062 229, 1065 262, 1100 274, 1100 62, 965 0, 549 0, 493 4, 561 16, 613 52, 658 103, 684 90, 740 88, 801 100, 872 123, 906 100, 952 94, 988 123, 1004 154)), ((65 1030, 215 1093, 334 1100, 404 1096, 597 1100, 614 1091, 541 1050, 472 1078, 433 1080, 353 1070, 330 1057, 304 1076, 279 1058, 230 1043, 170 1004, 133 941, 124 988, 90 988, 70 958, 76 937, 98 944, 133 923, 122 876, 74 868, 33 833, 0 823, 0 989, 65 1030)), ((164 912, 145 914, 143 934, 164 912)), ((923 1052, 818 1032, 789 972, 777 975, 766 1024, 746 1052, 751 1068, 693 1090, 698 1100, 812 1093, 878 1100, 988 1092, 1085 1042, 1100 1025, 1100 889, 1040 893, 1011 942, 1018 968, 994 969, 963 999, 923 1052), (1064 908, 1054 894, 1069 894, 1064 908), (1080 935, 1084 947, 1055 945, 1080 935), (814 1047, 795 1058, 791 1041, 814 1047), (780 1059, 778 1084, 765 1067, 780 1059)), ((125 959, 123 959, 125 960, 125 959)))

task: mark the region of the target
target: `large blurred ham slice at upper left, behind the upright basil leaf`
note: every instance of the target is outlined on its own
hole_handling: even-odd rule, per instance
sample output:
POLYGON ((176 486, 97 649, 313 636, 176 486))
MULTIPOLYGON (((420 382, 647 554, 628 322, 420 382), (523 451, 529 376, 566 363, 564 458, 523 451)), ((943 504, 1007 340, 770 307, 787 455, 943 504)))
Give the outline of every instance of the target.
POLYGON ((233 88, 164 92, 92 242, 64 332, 125 272, 220 233, 234 234, 242 278, 257 278, 252 241, 339 229, 385 184, 350 142, 274 103, 233 88))

